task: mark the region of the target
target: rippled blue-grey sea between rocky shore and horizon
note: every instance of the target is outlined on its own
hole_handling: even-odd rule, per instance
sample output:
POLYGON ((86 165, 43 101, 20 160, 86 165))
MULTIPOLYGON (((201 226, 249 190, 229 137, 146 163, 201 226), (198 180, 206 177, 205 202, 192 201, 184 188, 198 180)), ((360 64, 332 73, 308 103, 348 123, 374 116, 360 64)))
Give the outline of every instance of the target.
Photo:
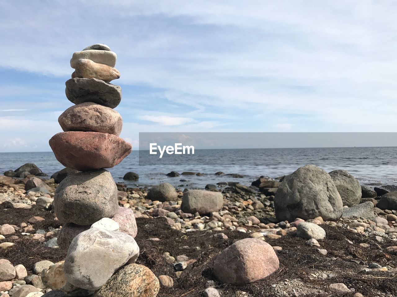
MULTIPOLYGON (((327 172, 345 169, 364 185, 397 185, 396 155, 397 147, 202 149, 196 150, 183 162, 148 162, 152 165, 145 165, 148 152, 134 150, 120 164, 108 170, 117 183, 126 183, 129 187, 150 187, 167 182, 179 188, 204 188, 207 184, 219 182, 251 185, 261 175, 277 178, 312 164, 327 172), (138 173, 139 180, 123 181, 128 171, 138 173), (170 171, 193 171, 204 175, 168 177, 166 174, 170 171), (215 175, 218 171, 225 175, 215 175), (233 173, 242 177, 233 177, 233 173)), ((64 168, 52 152, 2 152, 0 174, 25 163, 36 164, 49 176, 64 168)))

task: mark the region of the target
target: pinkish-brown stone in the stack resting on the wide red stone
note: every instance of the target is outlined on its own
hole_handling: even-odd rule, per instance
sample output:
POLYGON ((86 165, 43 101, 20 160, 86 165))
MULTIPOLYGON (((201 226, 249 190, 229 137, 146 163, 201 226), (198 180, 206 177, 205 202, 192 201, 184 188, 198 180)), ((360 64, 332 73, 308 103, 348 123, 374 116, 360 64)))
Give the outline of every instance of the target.
POLYGON ((123 127, 123 119, 116 110, 93 102, 69 107, 58 122, 64 131, 93 131, 116 136, 123 127))

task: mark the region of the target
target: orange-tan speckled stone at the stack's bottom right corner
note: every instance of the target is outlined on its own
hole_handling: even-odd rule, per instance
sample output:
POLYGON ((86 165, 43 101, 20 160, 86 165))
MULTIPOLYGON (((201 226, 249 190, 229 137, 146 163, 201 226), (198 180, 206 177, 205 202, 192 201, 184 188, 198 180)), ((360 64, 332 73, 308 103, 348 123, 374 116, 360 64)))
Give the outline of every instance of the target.
POLYGON ((130 264, 119 269, 93 297, 155 297, 160 283, 149 268, 130 264))

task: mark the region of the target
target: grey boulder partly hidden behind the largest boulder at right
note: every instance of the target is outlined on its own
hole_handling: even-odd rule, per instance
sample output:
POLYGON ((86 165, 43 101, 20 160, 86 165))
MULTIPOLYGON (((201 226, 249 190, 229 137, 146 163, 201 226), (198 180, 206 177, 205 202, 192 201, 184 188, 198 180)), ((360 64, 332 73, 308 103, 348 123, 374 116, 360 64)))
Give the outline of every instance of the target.
POLYGON ((346 170, 331 171, 330 176, 341 195, 343 205, 355 206, 361 200, 361 186, 357 179, 346 170))

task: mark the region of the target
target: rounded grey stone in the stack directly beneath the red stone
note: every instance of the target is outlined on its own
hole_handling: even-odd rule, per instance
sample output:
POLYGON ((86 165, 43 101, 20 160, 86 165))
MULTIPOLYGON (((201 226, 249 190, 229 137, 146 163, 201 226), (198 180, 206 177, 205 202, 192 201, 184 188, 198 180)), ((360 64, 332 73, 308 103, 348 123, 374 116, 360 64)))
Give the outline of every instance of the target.
POLYGON ((117 186, 106 169, 75 173, 56 188, 55 214, 62 223, 92 225, 118 209, 117 186))

